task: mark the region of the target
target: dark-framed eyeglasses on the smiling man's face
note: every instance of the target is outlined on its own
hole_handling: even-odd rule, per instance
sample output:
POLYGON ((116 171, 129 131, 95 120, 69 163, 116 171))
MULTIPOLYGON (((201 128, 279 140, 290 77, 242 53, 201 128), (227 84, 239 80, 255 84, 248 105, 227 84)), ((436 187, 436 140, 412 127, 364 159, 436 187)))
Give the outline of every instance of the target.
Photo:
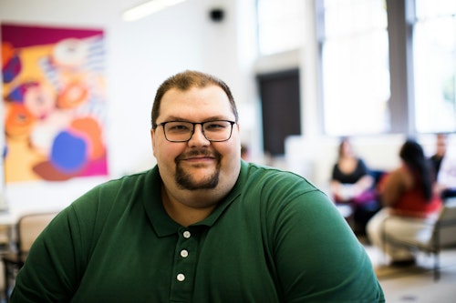
POLYGON ((195 125, 202 126, 202 135, 211 142, 228 140, 233 133, 234 121, 215 120, 206 122, 166 121, 158 126, 163 126, 165 138, 170 142, 187 142, 195 131, 195 125))

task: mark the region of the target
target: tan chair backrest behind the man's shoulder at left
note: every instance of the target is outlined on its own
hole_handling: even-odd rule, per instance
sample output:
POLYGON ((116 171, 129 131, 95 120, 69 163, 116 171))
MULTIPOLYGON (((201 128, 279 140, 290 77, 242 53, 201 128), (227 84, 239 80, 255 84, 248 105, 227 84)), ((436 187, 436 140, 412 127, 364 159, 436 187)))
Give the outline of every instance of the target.
POLYGON ((17 222, 18 254, 26 256, 36 237, 57 216, 57 212, 26 214, 17 222))

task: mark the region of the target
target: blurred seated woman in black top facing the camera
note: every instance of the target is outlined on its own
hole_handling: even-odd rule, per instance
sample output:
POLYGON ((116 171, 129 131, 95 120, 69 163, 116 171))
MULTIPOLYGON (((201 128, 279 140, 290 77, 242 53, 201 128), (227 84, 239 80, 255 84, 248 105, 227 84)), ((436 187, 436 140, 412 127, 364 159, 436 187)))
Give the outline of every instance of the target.
POLYGON ((342 138, 338 146, 338 158, 333 167, 330 190, 337 204, 353 207, 355 233, 366 234, 366 224, 379 208, 374 177, 370 176, 364 161, 355 156, 347 137, 342 138))

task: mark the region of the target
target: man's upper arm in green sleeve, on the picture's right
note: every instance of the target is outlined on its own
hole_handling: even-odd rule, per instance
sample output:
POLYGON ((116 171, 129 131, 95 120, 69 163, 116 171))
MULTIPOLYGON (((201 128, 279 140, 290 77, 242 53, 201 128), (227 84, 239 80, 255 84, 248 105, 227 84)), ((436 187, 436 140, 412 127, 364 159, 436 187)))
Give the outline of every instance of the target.
POLYGON ((286 302, 383 302, 370 259, 319 192, 294 199, 277 220, 276 265, 286 302))

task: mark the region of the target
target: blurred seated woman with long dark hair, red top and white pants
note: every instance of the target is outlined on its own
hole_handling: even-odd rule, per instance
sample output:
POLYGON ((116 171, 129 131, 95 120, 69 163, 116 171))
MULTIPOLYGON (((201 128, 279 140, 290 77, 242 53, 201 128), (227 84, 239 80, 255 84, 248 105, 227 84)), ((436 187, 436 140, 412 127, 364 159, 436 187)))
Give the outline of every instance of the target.
POLYGON ((401 165, 380 181, 383 208, 370 219, 367 229, 370 242, 385 250, 391 265, 405 266, 415 263, 413 252, 403 247, 385 246, 382 232, 401 240, 430 233, 430 224, 423 223, 437 219, 441 200, 420 144, 407 140, 400 148, 399 157, 401 165))

